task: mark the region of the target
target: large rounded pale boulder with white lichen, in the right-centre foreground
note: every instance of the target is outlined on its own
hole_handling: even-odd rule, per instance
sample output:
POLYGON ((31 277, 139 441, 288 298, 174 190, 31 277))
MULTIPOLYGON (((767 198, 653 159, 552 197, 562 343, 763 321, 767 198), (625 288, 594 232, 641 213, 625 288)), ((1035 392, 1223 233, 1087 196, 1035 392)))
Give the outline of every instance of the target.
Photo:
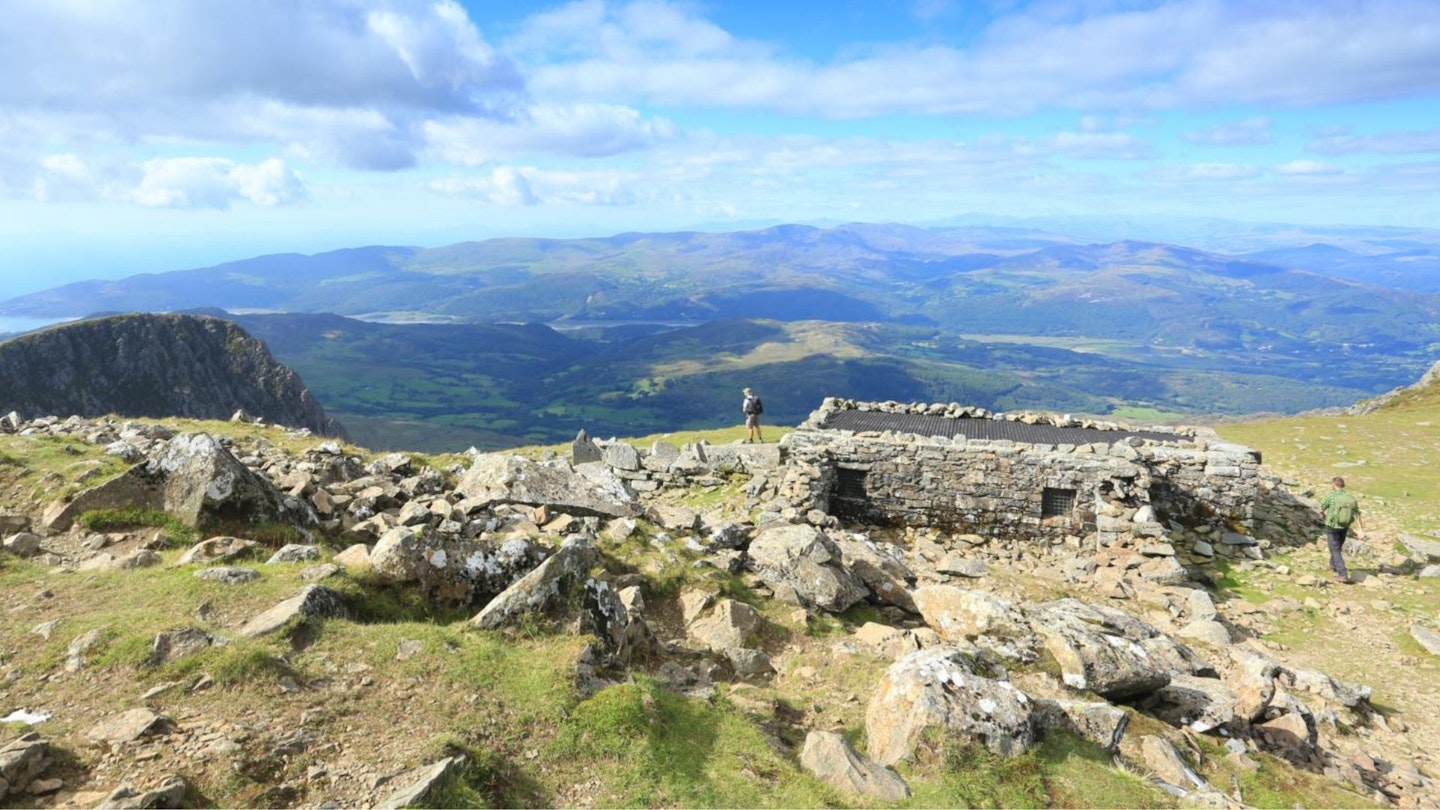
POLYGON ((870 758, 881 765, 910 758, 927 728, 1005 757, 1030 748, 1030 698, 981 656, 942 646, 891 664, 865 709, 870 758))

